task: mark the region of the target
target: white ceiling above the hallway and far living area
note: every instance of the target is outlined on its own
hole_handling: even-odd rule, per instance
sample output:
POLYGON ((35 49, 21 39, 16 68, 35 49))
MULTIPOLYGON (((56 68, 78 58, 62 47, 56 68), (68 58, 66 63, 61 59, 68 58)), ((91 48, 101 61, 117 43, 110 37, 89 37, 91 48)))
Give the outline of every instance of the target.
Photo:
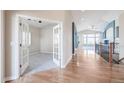
POLYGON ((118 16, 122 10, 73 10, 72 16, 78 31, 101 31, 105 24, 118 16))

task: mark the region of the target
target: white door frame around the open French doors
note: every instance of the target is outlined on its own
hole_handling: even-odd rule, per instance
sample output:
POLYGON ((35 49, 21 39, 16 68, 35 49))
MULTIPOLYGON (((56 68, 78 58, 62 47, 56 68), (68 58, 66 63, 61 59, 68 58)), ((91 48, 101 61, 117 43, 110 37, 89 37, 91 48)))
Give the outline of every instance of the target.
POLYGON ((19 78, 21 76, 21 73, 20 73, 20 56, 19 56, 19 53, 20 53, 20 49, 19 49, 19 17, 25 17, 25 18, 34 18, 34 19, 39 19, 39 20, 44 20, 44 21, 48 21, 48 22, 53 22, 53 23, 57 23, 57 24, 60 24, 61 25, 61 62, 60 62, 60 68, 62 68, 62 63, 63 63, 63 22, 61 21, 54 21, 54 20, 49 20, 49 19, 45 19, 45 18, 37 18, 37 17, 32 17, 32 16, 26 16, 26 15, 22 15, 22 14, 16 14, 15 16, 15 51, 14 52, 14 56, 13 55, 13 59, 15 60, 16 62, 16 77, 19 78))

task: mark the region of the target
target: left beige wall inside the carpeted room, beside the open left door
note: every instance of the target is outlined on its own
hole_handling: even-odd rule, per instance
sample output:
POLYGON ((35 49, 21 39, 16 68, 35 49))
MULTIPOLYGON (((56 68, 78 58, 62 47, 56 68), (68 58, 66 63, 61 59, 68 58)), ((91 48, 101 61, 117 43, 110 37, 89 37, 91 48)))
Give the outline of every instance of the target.
POLYGON ((29 26, 29 31, 31 32, 29 53, 32 55, 40 52, 40 28, 29 26))

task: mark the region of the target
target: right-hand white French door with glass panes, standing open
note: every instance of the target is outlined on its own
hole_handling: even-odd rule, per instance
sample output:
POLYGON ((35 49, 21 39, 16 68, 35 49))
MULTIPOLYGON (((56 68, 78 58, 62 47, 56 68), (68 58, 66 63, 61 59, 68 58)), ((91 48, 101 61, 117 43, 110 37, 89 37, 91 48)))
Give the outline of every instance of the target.
POLYGON ((61 26, 53 27, 53 61, 61 67, 61 26))

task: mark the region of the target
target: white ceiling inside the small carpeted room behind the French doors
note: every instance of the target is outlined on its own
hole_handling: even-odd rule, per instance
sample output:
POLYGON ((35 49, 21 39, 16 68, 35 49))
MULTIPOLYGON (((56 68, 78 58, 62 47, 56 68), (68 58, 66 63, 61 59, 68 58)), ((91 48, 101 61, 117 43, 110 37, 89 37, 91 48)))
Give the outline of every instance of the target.
POLYGON ((48 20, 41 20, 37 18, 30 18, 30 17, 23 17, 23 19, 28 23, 30 26, 38 27, 38 28, 44 28, 46 26, 55 26, 57 23, 51 22, 48 20))

